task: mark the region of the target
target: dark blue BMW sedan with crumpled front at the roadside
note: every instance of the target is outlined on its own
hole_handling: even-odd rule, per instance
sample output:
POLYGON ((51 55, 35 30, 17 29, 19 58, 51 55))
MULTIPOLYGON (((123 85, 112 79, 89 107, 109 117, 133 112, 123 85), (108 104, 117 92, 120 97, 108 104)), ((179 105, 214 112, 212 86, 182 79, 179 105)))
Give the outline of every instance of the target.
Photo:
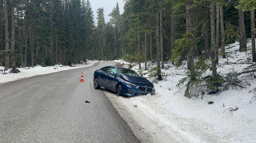
POLYGON ((98 69, 94 72, 93 81, 95 89, 104 87, 117 92, 117 96, 155 94, 155 87, 150 81, 123 67, 106 66, 98 69))

